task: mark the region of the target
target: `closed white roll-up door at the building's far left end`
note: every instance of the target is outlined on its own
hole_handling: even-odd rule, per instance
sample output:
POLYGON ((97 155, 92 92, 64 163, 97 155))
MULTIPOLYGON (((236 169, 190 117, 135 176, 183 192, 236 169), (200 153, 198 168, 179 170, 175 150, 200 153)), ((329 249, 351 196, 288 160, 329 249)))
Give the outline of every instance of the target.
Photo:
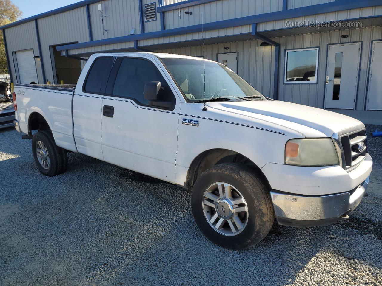
POLYGON ((16 51, 16 61, 21 84, 38 84, 33 50, 16 51))

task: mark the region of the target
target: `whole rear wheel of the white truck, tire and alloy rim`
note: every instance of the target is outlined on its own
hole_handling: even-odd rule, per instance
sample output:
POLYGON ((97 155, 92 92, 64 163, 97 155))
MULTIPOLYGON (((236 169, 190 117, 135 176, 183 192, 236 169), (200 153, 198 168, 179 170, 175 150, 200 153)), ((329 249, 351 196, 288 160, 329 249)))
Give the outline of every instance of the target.
POLYGON ((39 131, 33 135, 32 152, 37 167, 45 176, 52 177, 66 171, 66 151, 56 145, 51 132, 39 131))

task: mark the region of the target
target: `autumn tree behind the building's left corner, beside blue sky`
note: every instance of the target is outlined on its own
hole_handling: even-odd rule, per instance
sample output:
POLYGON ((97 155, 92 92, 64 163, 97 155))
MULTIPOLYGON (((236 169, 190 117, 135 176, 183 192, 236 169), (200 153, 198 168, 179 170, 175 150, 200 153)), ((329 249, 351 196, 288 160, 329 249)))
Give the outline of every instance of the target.
MULTIPOLYGON (((11 0, 0 0, 0 26, 17 21, 23 13, 11 0)), ((8 74, 3 33, 0 34, 0 74, 8 74)))

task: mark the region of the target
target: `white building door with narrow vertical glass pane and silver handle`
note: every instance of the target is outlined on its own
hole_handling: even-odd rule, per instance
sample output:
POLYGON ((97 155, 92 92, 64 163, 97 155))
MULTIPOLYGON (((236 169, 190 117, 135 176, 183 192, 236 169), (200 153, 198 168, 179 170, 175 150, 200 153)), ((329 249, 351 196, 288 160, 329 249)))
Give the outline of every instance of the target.
POLYGON ((361 43, 330 45, 327 58, 325 108, 354 109, 361 43))

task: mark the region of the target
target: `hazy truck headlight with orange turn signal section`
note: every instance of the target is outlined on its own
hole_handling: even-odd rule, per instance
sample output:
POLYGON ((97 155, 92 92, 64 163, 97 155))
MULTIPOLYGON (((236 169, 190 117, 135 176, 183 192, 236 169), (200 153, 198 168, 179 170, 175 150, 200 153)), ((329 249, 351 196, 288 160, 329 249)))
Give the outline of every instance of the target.
POLYGON ((313 167, 338 163, 338 155, 330 138, 291 139, 286 142, 285 164, 313 167))

